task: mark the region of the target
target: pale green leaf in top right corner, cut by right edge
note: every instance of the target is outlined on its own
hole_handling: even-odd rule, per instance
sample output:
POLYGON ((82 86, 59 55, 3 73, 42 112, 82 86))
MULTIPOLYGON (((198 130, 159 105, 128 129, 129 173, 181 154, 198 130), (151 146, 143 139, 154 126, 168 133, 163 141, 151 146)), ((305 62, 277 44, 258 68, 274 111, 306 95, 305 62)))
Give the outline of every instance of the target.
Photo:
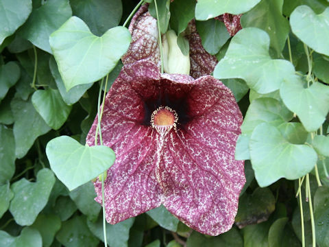
POLYGON ((293 34, 308 47, 329 56, 329 8, 315 14, 306 5, 298 6, 290 15, 290 25, 293 34))

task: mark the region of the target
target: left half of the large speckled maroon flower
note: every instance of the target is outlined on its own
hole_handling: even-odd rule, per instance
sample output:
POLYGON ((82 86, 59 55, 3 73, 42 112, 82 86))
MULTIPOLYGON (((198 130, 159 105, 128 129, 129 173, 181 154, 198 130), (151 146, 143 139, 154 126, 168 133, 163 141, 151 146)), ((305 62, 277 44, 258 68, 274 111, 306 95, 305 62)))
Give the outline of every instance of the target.
MULTIPOLYGON (((155 177, 156 132, 143 125, 143 99, 157 97, 160 79, 151 63, 123 67, 106 96, 101 134, 103 145, 117 156, 105 181, 106 220, 116 224, 161 204, 161 189, 155 177)), ((95 145, 97 118, 87 137, 95 145)), ((95 183, 97 202, 101 203, 101 183, 95 183)))

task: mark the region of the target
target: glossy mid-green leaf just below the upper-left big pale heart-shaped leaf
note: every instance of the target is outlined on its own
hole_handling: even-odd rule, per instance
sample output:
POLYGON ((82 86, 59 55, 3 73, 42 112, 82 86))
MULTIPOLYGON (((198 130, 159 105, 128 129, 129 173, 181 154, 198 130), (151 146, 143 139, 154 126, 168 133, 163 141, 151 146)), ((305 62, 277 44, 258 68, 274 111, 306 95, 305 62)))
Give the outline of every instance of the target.
POLYGON ((56 89, 35 91, 32 95, 32 104, 42 119, 54 130, 58 130, 65 123, 72 108, 65 104, 56 89))

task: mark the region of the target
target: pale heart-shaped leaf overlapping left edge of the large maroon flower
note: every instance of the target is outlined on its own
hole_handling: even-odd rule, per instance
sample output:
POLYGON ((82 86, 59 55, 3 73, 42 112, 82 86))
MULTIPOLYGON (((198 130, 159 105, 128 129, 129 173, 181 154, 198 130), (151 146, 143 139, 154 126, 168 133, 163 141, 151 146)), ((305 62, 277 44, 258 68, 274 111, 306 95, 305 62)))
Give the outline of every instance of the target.
POLYGON ((88 147, 66 136, 49 141, 46 154, 51 169, 70 191, 106 171, 115 160, 106 146, 88 147))

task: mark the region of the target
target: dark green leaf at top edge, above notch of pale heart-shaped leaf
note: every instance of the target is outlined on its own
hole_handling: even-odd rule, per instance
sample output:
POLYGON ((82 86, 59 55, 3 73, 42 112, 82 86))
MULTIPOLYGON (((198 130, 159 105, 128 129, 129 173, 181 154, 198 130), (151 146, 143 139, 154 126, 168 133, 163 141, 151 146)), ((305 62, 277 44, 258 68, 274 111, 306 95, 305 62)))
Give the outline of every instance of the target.
POLYGON ((121 0, 71 0, 70 4, 73 16, 82 19, 97 36, 119 25, 122 16, 121 0))

